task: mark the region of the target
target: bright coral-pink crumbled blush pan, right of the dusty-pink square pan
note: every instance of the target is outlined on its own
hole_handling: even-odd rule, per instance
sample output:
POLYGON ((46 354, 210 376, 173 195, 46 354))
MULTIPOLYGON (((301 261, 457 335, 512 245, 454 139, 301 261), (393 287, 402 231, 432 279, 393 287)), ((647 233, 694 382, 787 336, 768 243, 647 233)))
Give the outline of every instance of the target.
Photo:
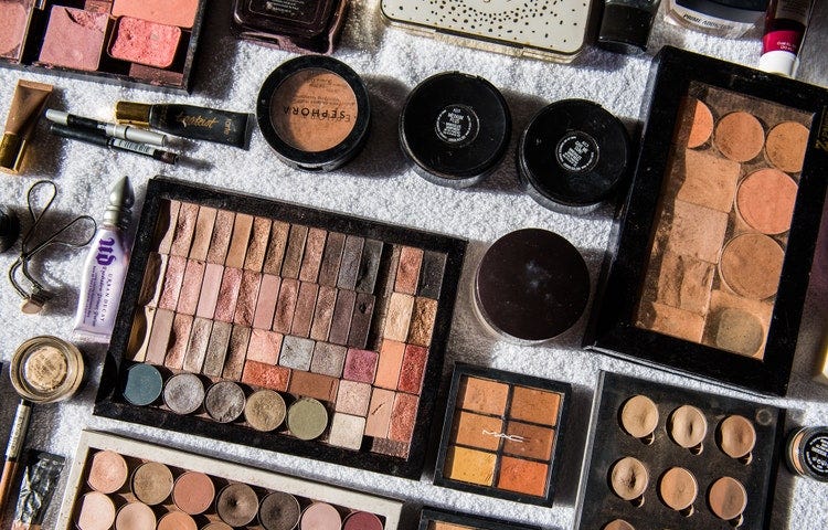
POLYGON ((176 59, 181 28, 121 17, 113 33, 109 55, 130 63, 166 68, 176 59))

